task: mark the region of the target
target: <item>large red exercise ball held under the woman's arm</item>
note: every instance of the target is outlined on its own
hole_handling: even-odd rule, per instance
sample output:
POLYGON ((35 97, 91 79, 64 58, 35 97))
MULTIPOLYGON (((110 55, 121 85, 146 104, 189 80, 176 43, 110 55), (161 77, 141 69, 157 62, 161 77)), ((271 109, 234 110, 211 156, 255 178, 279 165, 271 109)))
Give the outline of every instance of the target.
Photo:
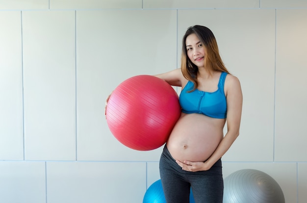
POLYGON ((133 76, 119 84, 108 101, 107 125, 128 148, 149 151, 161 147, 180 117, 178 94, 164 80, 133 76))

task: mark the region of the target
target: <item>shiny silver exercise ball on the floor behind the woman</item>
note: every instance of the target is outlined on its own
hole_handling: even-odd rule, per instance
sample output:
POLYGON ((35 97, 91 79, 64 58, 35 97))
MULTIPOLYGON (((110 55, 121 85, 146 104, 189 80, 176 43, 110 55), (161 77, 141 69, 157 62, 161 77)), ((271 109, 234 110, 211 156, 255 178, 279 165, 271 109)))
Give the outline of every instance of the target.
POLYGON ((268 174, 243 169, 224 179, 223 203, 284 203, 279 184, 268 174))

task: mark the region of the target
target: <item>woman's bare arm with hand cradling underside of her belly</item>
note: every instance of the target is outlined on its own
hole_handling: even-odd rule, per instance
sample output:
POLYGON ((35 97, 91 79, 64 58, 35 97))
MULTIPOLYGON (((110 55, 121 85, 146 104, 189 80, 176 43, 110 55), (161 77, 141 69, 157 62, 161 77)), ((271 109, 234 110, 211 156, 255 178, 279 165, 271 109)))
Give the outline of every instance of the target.
POLYGON ((227 133, 205 162, 184 161, 178 164, 186 171, 207 171, 219 160, 230 148, 239 135, 242 113, 242 90, 237 77, 228 75, 225 80, 225 92, 227 98, 227 133))

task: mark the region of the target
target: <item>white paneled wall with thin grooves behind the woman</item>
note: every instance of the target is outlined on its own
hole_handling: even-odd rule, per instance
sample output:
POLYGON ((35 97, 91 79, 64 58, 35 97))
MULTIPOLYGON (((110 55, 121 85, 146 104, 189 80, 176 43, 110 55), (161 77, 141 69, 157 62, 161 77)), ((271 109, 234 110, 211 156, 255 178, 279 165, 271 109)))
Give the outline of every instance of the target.
POLYGON ((106 96, 180 66, 190 25, 214 32, 241 81, 224 177, 252 168, 307 199, 307 0, 0 0, 1 203, 141 203, 161 148, 119 143, 106 96))

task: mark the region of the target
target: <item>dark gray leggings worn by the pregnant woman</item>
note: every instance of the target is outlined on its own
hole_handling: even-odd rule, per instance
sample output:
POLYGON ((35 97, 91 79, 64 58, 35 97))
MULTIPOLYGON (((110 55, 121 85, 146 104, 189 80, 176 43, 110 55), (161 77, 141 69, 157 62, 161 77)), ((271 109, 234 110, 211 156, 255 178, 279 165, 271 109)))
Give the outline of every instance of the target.
POLYGON ((223 203, 221 159, 208 171, 188 172, 182 170, 175 162, 165 145, 159 167, 167 203, 189 203, 190 188, 195 203, 223 203))

